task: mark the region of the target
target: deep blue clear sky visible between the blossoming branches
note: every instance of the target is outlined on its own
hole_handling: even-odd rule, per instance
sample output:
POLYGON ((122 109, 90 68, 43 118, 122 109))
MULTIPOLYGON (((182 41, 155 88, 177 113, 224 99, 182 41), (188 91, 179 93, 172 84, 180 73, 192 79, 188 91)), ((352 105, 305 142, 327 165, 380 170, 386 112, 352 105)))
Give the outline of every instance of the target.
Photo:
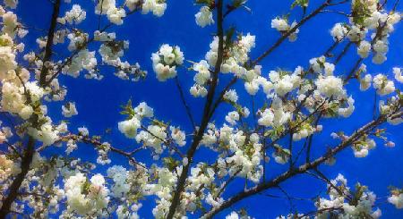
MULTIPOLYGON (((311 1, 311 9, 322 1, 311 1)), ((89 29, 92 32, 97 28, 97 17, 94 15, 94 4, 92 1, 72 0, 73 4, 81 4, 87 11, 87 20, 83 21, 81 28, 89 29)), ((279 33, 275 29, 270 28, 270 20, 277 15, 288 12, 291 0, 282 1, 264 1, 250 0, 247 4, 252 13, 240 10, 228 16, 225 21, 225 27, 231 25, 236 26, 236 30, 244 34, 250 32, 256 36, 256 47, 251 54, 257 57, 262 54, 269 46, 279 38, 279 33)), ((64 9, 71 7, 71 4, 64 4, 64 9)), ((401 7, 399 7, 401 9, 401 7)), ((205 53, 209 50, 209 44, 212 39, 211 33, 215 31, 214 26, 201 29, 195 24, 194 14, 199 10, 198 6, 193 5, 191 0, 168 0, 167 11, 161 18, 156 18, 150 14, 142 15, 136 13, 131 15, 124 21, 123 26, 114 28, 118 39, 130 40, 130 49, 126 52, 125 58, 130 63, 140 63, 142 68, 149 72, 146 80, 141 82, 130 82, 117 79, 110 69, 103 69, 101 72, 105 79, 84 80, 73 79, 62 75, 59 80, 68 88, 67 99, 74 101, 77 105, 79 114, 71 120, 71 128, 75 129, 81 126, 87 126, 91 134, 102 135, 107 129, 111 128, 112 133, 107 135, 106 140, 112 142, 116 147, 133 148, 136 144, 117 131, 117 122, 124 120, 124 116, 119 114, 120 105, 124 105, 129 98, 133 99, 136 105, 141 101, 146 101, 154 108, 155 114, 164 121, 172 121, 173 124, 180 125, 185 130, 191 130, 191 126, 184 116, 184 107, 181 105, 178 91, 174 80, 160 83, 152 72, 150 55, 158 50, 163 43, 177 45, 184 51, 186 59, 199 61, 203 59, 205 53)), ((309 9, 308 9, 309 10, 309 9)), ((51 5, 47 0, 20 0, 17 10, 23 24, 29 27, 39 29, 47 29, 51 16, 51 5)), ((290 20, 298 20, 301 16, 300 10, 295 10, 290 15, 290 20)), ((270 56, 262 62, 263 74, 267 75, 270 70, 277 68, 293 70, 297 65, 307 66, 310 58, 322 55, 324 50, 332 44, 330 37, 330 29, 336 22, 346 21, 346 18, 339 14, 320 14, 312 21, 309 21, 300 29, 298 39, 295 43, 285 42, 270 56)), ((107 23, 103 20, 103 23, 107 23)), ((26 38, 27 49, 35 45, 36 36, 41 34, 38 30, 30 30, 30 35, 26 38)), ((403 67, 403 25, 400 23, 396 26, 396 30, 390 37, 390 52, 388 60, 382 65, 373 65, 370 60, 365 60, 368 66, 368 72, 373 75, 378 72, 391 74, 391 68, 394 66, 403 67)), ((34 47, 37 49, 37 47, 34 47)), ((341 46, 339 47, 339 49, 341 46)), ((90 47, 94 50, 96 47, 90 47)), ((57 51, 59 54, 65 54, 65 51, 57 51), (60 52, 60 53, 59 53, 60 52)), ((348 55, 336 67, 337 74, 346 73, 356 62, 356 48, 350 49, 348 55)), ((179 79, 185 91, 193 84, 193 73, 185 68, 179 70, 179 79)), ((224 77, 221 81, 226 81, 224 77)), ((225 84, 225 83, 223 83, 225 84)), ((236 85, 242 89, 243 85, 236 85)), ((316 156, 320 155, 326 146, 334 146, 338 142, 330 139, 332 131, 351 131, 359 128, 372 119, 374 90, 370 89, 360 92, 356 82, 347 85, 349 94, 356 99, 356 112, 348 119, 324 120, 324 130, 322 134, 314 138, 313 149, 316 156)), ((401 88, 401 86, 400 86, 401 88)), ((241 95, 244 103, 250 103, 250 97, 241 95)), ((196 121, 201 118, 201 109, 204 100, 194 99, 186 92, 188 103, 193 109, 193 115, 196 121)), ((260 97, 262 98, 262 97, 260 97)), ((50 112, 54 118, 63 119, 60 114, 60 103, 52 104, 50 112)), ((215 116, 217 122, 222 122, 224 114, 229 108, 227 106, 219 108, 215 116)), ((72 130, 73 130, 72 129, 72 130)), ((394 148, 383 147, 381 141, 378 141, 378 147, 370 151, 370 155, 365 158, 356 159, 350 148, 339 154, 338 162, 331 168, 322 167, 322 171, 330 178, 335 178, 338 173, 343 173, 353 187, 356 181, 367 185, 382 200, 383 218, 403 218, 403 211, 397 211, 393 206, 385 204, 385 196, 387 196, 389 185, 403 187, 403 138, 401 137, 401 127, 389 127, 390 139, 396 143, 394 148)), ((55 154, 55 151, 47 151, 48 155, 55 154)), ((138 160, 150 162, 147 153, 141 154, 138 160)), ((96 153, 86 146, 74 154, 75 156, 83 156, 92 161, 96 159, 96 153)), ((211 156, 206 150, 196 154, 196 157, 211 156)), ((119 156, 116 158, 116 164, 125 164, 119 156)), ((198 158, 196 158, 198 159, 198 158)), ((114 161, 114 159, 112 159, 114 161)), ((281 166, 270 162, 268 165, 267 175, 273 177, 277 173, 284 171, 286 166, 281 166)), ((102 168, 99 171, 103 171, 102 168)), ((243 181, 236 182, 240 185, 236 190, 230 190, 228 194, 243 190, 243 181)), ((282 184, 283 189, 289 194, 298 198, 308 198, 325 190, 322 181, 313 180, 312 177, 301 175, 292 181, 282 184)), ((279 190, 270 190, 267 193, 277 194, 279 190)), ((313 209, 313 203, 308 201, 295 201, 296 209, 300 212, 306 212, 313 209)), ((141 208, 141 216, 149 218, 153 206, 152 201, 146 201, 141 208)), ((280 214, 287 214, 289 210, 287 199, 284 198, 268 198, 265 196, 255 196, 245 199, 236 204, 245 206, 248 212, 256 218, 274 218, 280 214)), ((223 215, 219 215, 219 218, 223 215)))

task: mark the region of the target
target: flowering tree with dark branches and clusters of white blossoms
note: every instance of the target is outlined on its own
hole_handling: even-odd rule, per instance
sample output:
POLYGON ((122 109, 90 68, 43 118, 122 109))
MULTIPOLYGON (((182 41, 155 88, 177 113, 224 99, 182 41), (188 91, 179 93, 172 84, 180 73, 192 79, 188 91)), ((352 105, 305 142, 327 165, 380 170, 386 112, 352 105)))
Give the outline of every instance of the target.
MULTIPOLYGON (((73 100, 65 98, 67 87, 58 79, 70 76, 81 80, 84 74, 86 79, 102 80, 101 67, 122 80, 144 79, 147 71, 139 63, 124 59, 124 53, 130 52, 129 42, 110 29, 124 25, 133 13, 164 15, 165 0, 95 0, 98 28, 93 32, 80 25, 93 8, 84 10, 80 1, 49 0, 53 5, 50 26, 31 48, 21 43, 30 34, 14 13, 18 1, 3 2, 0 218, 138 218, 142 203, 150 198, 155 203, 152 214, 156 218, 211 218, 221 212, 227 218, 249 218, 247 208, 232 212, 228 208, 266 190, 281 190, 292 200, 280 185, 303 174, 322 181, 326 194, 313 199, 314 211, 290 212, 279 218, 382 215, 375 194, 367 187, 357 182, 351 189, 341 174, 330 180, 321 167, 334 164, 339 152, 349 147, 354 156, 364 157, 376 142, 395 146, 388 138, 399 133, 387 132, 387 128, 388 123, 403 122, 403 94, 399 91, 402 70, 393 68, 391 76, 373 75, 364 62, 382 64, 386 60, 388 38, 401 20, 396 11, 399 0, 322 0, 317 5, 296 0, 290 12, 301 12, 301 17, 296 21, 290 21, 288 15, 273 18, 270 25, 279 31, 279 38, 257 58, 249 55, 255 37, 225 25, 230 14, 250 11, 246 0, 196 0, 200 12, 195 14, 195 24, 201 28, 216 26, 210 50, 203 60, 192 61, 191 57, 184 58, 180 46, 162 44, 151 55, 155 75, 150 76, 160 82, 175 80, 192 129, 160 120, 158 114, 163 112, 154 112, 146 102, 128 100, 122 107, 124 120, 116 122, 116 127, 135 143, 129 150, 91 135, 85 127, 70 130, 68 120, 78 112, 73 100), (260 65, 283 42, 297 43, 304 24, 322 13, 339 13, 342 18, 329 27, 334 43, 323 49, 322 56, 313 57, 294 71, 281 66, 269 71, 260 65), (339 47, 342 49, 335 52, 339 47), (340 60, 352 48, 358 58, 348 72, 337 72, 340 60), (64 55, 55 55, 57 51, 64 55), (180 83, 180 69, 194 74, 192 87, 184 88, 180 83), (329 138, 332 146, 316 156, 315 135, 331 129, 331 125, 322 126, 323 121, 341 122, 354 113, 355 102, 366 101, 354 99, 347 89, 354 80, 359 81, 363 92, 376 91, 373 120, 351 133, 335 130, 329 138), (236 87, 238 84, 242 86, 236 87), (247 96, 264 100, 251 105, 243 99, 247 96), (201 118, 193 116, 190 98, 204 101, 201 118), (215 113, 222 105, 231 110, 224 116, 225 122, 215 122, 220 116, 215 113), (60 114, 60 108, 65 119, 55 121, 51 116, 60 114), (83 145, 94 148, 96 161, 71 155, 83 145), (44 156, 55 147, 65 152, 44 156), (213 152, 213 162, 196 157, 202 147, 213 152), (150 159, 137 156, 141 151, 150 159), (114 159, 120 158, 126 165, 114 164, 114 159), (287 170, 269 178, 266 174, 274 163, 287 166, 287 170), (105 168, 96 168, 99 165, 105 168), (235 182, 239 179, 244 183, 235 182), (236 194, 227 195, 236 188, 236 194)), ((403 208, 401 188, 390 188, 388 195, 390 204, 403 208)))

